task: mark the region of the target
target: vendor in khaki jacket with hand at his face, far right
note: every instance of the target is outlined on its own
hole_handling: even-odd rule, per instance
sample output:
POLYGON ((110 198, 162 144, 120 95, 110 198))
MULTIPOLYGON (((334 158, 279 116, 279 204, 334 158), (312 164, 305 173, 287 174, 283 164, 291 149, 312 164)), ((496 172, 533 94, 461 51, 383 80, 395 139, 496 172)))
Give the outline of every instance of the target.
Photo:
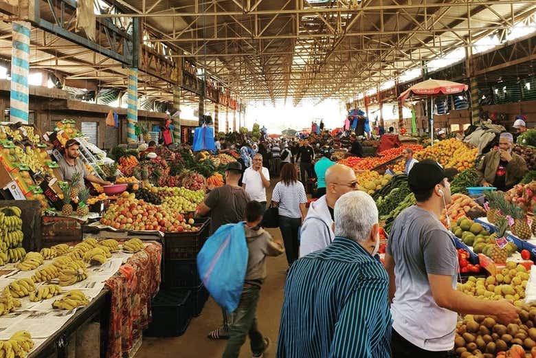
POLYGON ((506 191, 523 179, 528 171, 525 159, 514 153, 512 148, 511 133, 501 133, 499 148, 490 150, 476 167, 482 186, 494 186, 506 191))

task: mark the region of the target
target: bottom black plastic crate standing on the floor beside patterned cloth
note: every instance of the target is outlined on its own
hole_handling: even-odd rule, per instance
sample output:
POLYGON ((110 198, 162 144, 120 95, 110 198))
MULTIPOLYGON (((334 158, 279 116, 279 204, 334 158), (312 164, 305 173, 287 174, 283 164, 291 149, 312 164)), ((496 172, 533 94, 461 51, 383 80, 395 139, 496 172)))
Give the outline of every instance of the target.
POLYGON ((144 331, 146 337, 178 337, 182 335, 194 311, 190 291, 161 289, 153 298, 153 321, 144 331))

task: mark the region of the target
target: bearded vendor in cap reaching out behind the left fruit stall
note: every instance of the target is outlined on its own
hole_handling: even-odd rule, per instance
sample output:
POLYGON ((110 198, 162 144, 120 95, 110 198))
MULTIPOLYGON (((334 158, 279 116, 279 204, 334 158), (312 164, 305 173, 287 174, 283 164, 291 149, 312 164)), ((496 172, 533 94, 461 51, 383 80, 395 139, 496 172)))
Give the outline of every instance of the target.
POLYGON ((111 183, 106 180, 102 180, 93 173, 87 170, 80 157, 80 143, 76 139, 69 139, 65 142, 65 153, 63 158, 58 161, 61 179, 63 181, 72 181, 73 175, 78 173, 80 179, 78 183, 71 183, 72 186, 78 186, 78 188, 85 188, 85 181, 91 181, 91 183, 97 183, 101 186, 109 186, 111 183))

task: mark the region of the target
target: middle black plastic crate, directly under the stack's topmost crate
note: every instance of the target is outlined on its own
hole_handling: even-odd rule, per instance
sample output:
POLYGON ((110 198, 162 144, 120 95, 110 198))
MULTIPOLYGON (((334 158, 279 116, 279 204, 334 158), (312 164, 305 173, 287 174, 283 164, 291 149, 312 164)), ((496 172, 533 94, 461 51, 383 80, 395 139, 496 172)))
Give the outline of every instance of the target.
POLYGON ((197 271, 196 260, 168 260, 164 262, 163 287, 194 289, 200 284, 201 279, 197 271))

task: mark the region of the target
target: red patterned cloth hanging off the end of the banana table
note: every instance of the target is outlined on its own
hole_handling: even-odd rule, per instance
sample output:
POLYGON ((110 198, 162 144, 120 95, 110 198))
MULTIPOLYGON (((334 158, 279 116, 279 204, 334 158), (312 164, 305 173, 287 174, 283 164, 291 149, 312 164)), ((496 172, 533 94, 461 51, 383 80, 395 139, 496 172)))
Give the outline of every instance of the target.
POLYGON ((151 321, 150 301, 160 286, 162 247, 151 242, 106 282, 111 291, 108 358, 128 353, 151 321))

